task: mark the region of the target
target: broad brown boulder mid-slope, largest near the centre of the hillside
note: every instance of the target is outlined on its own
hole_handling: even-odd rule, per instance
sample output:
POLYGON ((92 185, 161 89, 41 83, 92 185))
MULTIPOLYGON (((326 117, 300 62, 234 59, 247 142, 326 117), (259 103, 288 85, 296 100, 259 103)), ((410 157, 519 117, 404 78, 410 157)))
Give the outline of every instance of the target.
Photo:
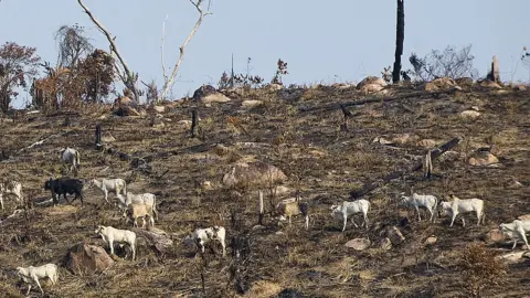
POLYGON ((235 185, 269 185, 286 180, 287 175, 280 169, 263 161, 237 162, 232 166, 230 172, 223 175, 223 184, 229 188, 235 185))

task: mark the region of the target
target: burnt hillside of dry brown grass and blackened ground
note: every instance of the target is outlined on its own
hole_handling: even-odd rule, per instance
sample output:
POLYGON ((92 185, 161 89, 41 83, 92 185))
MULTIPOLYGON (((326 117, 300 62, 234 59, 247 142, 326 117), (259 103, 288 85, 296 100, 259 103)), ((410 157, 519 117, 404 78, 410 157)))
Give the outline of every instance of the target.
MULTIPOLYGON (((181 240, 197 227, 213 224, 225 226, 229 236, 234 235, 231 212, 243 221, 241 231, 251 235, 251 257, 244 265, 251 285, 247 297, 268 297, 283 289, 305 297, 466 297, 462 270, 456 266, 466 244, 483 242, 484 235, 500 223, 530 213, 530 92, 479 86, 434 93, 417 86, 388 91, 383 96, 330 86, 233 93, 229 103, 198 107, 198 138, 190 138, 189 125, 181 121, 190 120, 194 108, 191 102, 167 104, 161 113, 163 127, 152 126, 159 123, 155 111, 142 118, 118 117, 110 114, 109 106, 50 115, 21 111, 2 119, 0 151, 11 158, 0 162, 1 178, 22 182, 30 207, 25 216, 8 219, 13 212, 9 204, 1 213, 0 290, 6 297, 21 297, 26 285, 21 288, 9 270, 60 264, 78 242, 104 246, 108 252, 94 234, 98 224, 131 228, 114 206, 103 205, 103 195, 95 189, 85 191, 84 207, 78 201, 72 205, 62 201, 59 206, 36 204, 50 198, 43 189, 50 175, 63 174, 57 151, 70 146, 81 152, 80 179, 124 178, 129 191, 156 192, 160 211, 156 226, 168 232, 174 244, 160 254, 140 242, 136 262, 117 259, 110 269, 94 276, 75 276, 61 268, 57 286, 42 281, 50 297, 201 297, 202 263, 181 240), (246 99, 263 100, 263 105, 243 108, 246 99), (365 99, 373 100, 354 104, 365 99), (348 131, 339 129, 343 116, 338 103, 353 114, 348 131), (460 117, 460 111, 471 107, 480 111, 478 118, 460 117), (96 151, 96 124, 116 138, 110 143, 114 149, 144 158, 149 171, 96 151), (21 150, 52 135, 57 136, 21 150), (377 137, 404 140, 386 146, 373 142, 377 137), (420 140, 433 139, 439 146, 456 137, 462 141, 452 150, 463 153, 459 158, 433 160, 436 175, 432 180, 423 180, 421 172, 409 172, 367 194, 363 199, 372 203, 370 228, 356 228, 349 222, 346 232, 340 232, 341 223, 330 215, 332 203, 347 199, 367 181, 409 169, 426 152, 420 140), (495 145, 491 152, 500 166, 469 167, 470 153, 490 145, 495 145), (277 226, 277 220, 268 213, 269 194, 265 189, 265 227, 253 228, 257 223, 258 188, 227 190, 221 185, 231 164, 242 160, 268 162, 289 177, 286 185, 298 189, 310 202, 309 231, 304 230, 299 217, 290 227, 277 226), (211 181, 212 189, 204 189, 204 181, 211 181), (516 181, 521 184, 515 185, 516 181), (399 207, 396 201, 411 187, 438 198, 455 193, 462 199, 484 199, 486 225, 476 226, 473 214, 466 215, 465 227, 457 220, 449 228, 448 217, 436 223, 417 222, 415 212, 399 207), (400 227, 405 241, 390 251, 380 249, 379 242, 384 237, 381 226, 399 225, 406 214, 410 224, 400 227), (424 242, 431 235, 437 242, 427 247, 424 242), (369 237, 373 244, 363 252, 344 246, 357 237, 369 237)), ((422 213, 422 220, 425 216, 422 213)), ((354 219, 360 222, 359 215, 354 219)), ((205 297, 233 297, 233 283, 229 284, 231 248, 224 259, 220 247, 215 248, 216 254, 209 254, 204 267, 205 297)), ((488 244, 488 249, 498 253, 510 248, 511 243, 488 244)), ((509 288, 494 286, 485 295, 527 295, 529 264, 510 265, 505 278, 509 288)))

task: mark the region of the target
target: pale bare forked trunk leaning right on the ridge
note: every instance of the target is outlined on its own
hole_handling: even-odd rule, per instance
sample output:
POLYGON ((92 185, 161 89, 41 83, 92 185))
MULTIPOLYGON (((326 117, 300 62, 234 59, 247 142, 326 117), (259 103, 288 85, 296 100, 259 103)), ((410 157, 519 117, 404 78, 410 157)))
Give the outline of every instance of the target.
MULTIPOLYGON (((160 93, 160 97, 158 98, 158 102, 163 100, 168 94, 168 92, 171 89, 171 87, 174 84, 174 78, 177 77, 177 74, 180 68, 180 64, 182 63, 182 60, 184 57, 184 49, 190 43, 191 39, 193 39, 193 35, 195 35, 197 31, 199 30, 199 26, 201 26, 202 20, 204 17, 212 14, 210 11, 210 1, 208 2, 208 9, 206 11, 203 11, 201 4, 203 0, 190 0, 190 2, 195 7, 197 11, 199 12, 199 19, 195 22, 195 25, 191 30, 190 34, 188 34, 188 38, 186 39, 184 43, 179 47, 180 54, 179 58, 177 60, 177 63, 174 64, 173 72, 171 73, 171 76, 166 75, 166 67, 163 66, 163 34, 162 32, 162 47, 161 47, 161 55, 162 55, 162 72, 163 72, 163 87, 162 92, 160 93)), ((167 20, 167 19, 166 19, 167 20)), ((166 28, 166 21, 163 24, 163 28, 166 28)), ((165 31, 165 29, 163 29, 165 31)))

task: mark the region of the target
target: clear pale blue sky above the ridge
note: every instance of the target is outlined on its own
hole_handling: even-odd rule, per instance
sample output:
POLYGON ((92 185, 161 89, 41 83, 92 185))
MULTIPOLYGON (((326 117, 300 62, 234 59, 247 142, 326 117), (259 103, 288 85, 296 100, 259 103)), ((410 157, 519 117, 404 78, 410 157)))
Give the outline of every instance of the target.
MULTIPOLYGON (((160 36, 166 25, 166 65, 172 67, 178 49, 197 21, 188 0, 85 0, 85 4, 117 36, 129 66, 140 78, 162 84, 160 36)), ((216 83, 229 71, 234 53, 235 72, 245 72, 252 57, 252 74, 268 82, 278 58, 288 63, 290 83, 358 82, 380 75, 391 65, 395 50, 395 1, 353 0, 212 0, 212 15, 204 19, 187 47, 177 98, 204 83, 216 83)), ((497 54, 501 79, 529 81, 529 70, 519 63, 523 45, 530 46, 530 1, 511 0, 406 0, 404 67, 409 56, 432 49, 473 44, 475 67, 485 75, 497 54)), ((89 21, 76 0, 2 0, 0 42, 13 41, 38 47, 45 61, 56 62, 54 32, 63 24, 87 29, 97 47, 108 50, 104 35, 89 21)), ((26 97, 23 92, 14 107, 26 97)))

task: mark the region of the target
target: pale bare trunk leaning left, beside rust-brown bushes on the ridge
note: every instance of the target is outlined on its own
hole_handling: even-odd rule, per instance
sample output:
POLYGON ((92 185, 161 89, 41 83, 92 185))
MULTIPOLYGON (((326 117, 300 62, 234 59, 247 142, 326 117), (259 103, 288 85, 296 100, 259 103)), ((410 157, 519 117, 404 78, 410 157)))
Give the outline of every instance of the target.
POLYGON ((135 97, 134 99, 136 102, 138 102, 139 96, 138 96, 138 89, 136 87, 136 84, 138 82, 138 74, 130 71, 129 66, 127 65, 127 63, 125 62, 123 56, 119 54, 118 46, 115 43, 116 36, 114 36, 114 38, 112 36, 112 34, 108 32, 108 30, 94 17, 94 14, 92 14, 91 10, 88 10, 88 8, 83 3, 82 0, 77 0, 77 2, 83 8, 83 10, 88 15, 88 18, 91 18, 91 20, 97 25, 99 31, 102 31, 105 34, 105 36, 107 38, 108 43, 110 44, 110 52, 114 55, 116 55, 116 57, 117 57, 117 61, 116 61, 116 64, 115 64, 116 73, 118 74, 121 82, 124 82, 124 85, 129 91, 131 91, 131 93, 135 97), (121 67, 117 64, 118 61, 119 61, 119 64, 121 65, 121 67))

